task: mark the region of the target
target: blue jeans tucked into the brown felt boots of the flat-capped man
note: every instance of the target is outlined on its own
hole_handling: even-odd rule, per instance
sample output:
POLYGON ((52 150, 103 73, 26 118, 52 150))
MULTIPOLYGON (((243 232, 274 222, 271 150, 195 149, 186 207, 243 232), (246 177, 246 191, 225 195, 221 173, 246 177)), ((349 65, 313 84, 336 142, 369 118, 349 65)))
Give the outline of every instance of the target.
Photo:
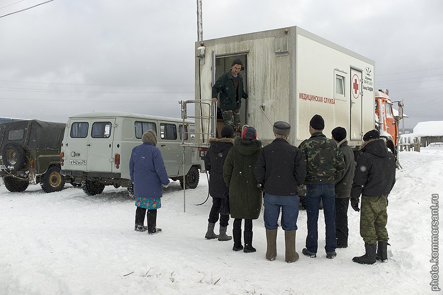
POLYGON ((264 226, 267 229, 278 227, 278 216, 281 208, 281 228, 283 230, 296 230, 298 219, 298 196, 275 196, 264 194, 264 226))

